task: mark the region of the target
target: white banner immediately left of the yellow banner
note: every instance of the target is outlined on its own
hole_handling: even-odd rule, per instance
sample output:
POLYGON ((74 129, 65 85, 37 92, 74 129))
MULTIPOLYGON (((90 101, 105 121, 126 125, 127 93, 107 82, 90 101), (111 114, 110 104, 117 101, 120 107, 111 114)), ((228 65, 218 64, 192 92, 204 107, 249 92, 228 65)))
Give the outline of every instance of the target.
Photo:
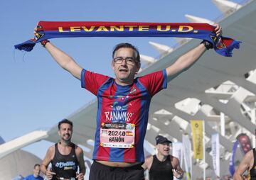
POLYGON ((187 180, 192 179, 192 158, 191 158, 191 142, 188 135, 182 135, 183 157, 186 169, 187 180))

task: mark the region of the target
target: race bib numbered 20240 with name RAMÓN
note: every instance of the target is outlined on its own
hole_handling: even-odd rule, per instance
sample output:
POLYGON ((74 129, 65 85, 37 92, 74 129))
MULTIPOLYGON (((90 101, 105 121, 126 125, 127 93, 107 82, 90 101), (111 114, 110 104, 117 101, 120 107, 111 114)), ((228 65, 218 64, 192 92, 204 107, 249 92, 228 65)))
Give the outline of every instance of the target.
POLYGON ((133 148, 135 125, 132 123, 102 123, 100 145, 103 147, 133 148))

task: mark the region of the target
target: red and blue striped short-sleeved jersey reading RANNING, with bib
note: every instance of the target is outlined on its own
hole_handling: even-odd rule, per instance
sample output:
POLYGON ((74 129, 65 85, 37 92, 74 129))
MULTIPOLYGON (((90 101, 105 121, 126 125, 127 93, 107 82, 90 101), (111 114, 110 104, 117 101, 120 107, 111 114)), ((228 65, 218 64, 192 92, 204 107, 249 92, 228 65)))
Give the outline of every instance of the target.
POLYGON ((120 86, 115 79, 82 69, 81 86, 97 96, 97 127, 92 159, 144 162, 143 142, 152 96, 167 86, 166 70, 120 86))

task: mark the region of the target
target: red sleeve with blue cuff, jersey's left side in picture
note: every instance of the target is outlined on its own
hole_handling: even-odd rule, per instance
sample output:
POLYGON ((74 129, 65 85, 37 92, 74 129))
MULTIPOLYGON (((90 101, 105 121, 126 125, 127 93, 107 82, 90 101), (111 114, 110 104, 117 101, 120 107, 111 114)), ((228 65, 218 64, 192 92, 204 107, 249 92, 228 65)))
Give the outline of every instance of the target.
POLYGON ((81 86, 82 88, 87 89, 92 94, 97 96, 97 92, 100 89, 100 86, 107 81, 110 77, 107 77, 102 74, 97 74, 95 72, 90 72, 85 69, 82 69, 81 72, 81 86))

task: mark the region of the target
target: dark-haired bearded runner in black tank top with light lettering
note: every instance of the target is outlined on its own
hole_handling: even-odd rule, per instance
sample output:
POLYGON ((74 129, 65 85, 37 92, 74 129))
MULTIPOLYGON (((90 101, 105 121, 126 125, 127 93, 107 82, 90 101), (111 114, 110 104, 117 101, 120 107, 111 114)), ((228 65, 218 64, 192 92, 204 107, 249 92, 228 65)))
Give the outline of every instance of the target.
POLYGON ((84 180, 86 168, 82 148, 71 142, 72 134, 73 123, 61 120, 58 123, 60 142, 48 148, 41 164, 41 171, 47 179, 84 180), (49 164, 52 168, 48 168, 49 164))

